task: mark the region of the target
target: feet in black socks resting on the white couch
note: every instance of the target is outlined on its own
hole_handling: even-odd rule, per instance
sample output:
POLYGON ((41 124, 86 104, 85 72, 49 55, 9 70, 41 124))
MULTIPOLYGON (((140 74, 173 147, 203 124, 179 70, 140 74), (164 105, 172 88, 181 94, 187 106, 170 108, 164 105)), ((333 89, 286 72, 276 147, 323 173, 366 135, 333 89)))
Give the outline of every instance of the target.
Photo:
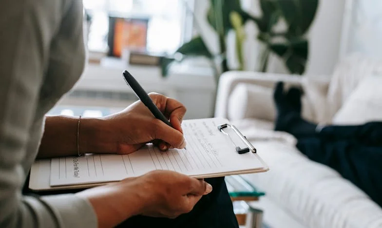
POLYGON ((278 82, 273 94, 276 105, 277 118, 275 131, 291 133, 295 136, 315 133, 316 126, 301 117, 301 89, 292 87, 284 92, 284 83, 278 82))

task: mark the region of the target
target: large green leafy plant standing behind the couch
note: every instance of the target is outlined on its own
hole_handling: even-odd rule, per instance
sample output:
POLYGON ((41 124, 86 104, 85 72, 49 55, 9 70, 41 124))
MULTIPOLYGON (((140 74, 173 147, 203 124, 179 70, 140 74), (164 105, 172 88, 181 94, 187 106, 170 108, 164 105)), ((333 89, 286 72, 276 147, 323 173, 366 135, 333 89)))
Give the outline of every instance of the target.
MULTIPOLYGON (((204 56, 209 59, 214 69, 217 83, 221 73, 229 71, 226 47, 227 34, 232 30, 236 36, 239 70, 243 69, 243 42, 247 38, 244 25, 248 21, 253 21, 257 25, 259 33, 256 39, 265 47, 257 64, 257 70, 265 72, 269 54, 274 53, 281 57, 291 74, 302 75, 309 49, 306 32, 315 17, 318 0, 259 0, 259 3, 262 14, 256 17, 242 9, 240 0, 210 0, 210 8, 206 16, 219 37, 220 52, 212 55, 203 38, 194 37, 176 50, 175 53, 181 54, 181 58, 175 60, 173 57, 163 57, 161 59, 162 75, 167 76, 174 61, 204 56), (280 21, 285 22, 285 29, 276 31, 276 25, 280 21), (220 60, 216 61, 216 59, 220 60)), ((198 28, 197 24, 196 28, 198 28)))

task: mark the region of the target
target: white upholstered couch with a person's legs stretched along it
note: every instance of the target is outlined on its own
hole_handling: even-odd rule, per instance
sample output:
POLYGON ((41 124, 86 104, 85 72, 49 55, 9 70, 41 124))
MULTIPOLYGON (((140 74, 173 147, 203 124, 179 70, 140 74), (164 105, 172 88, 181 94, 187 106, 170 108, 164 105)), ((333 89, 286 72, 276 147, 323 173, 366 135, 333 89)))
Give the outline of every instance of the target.
MULTIPOLYGON (((354 55, 338 64, 332 76, 236 71, 221 76, 215 116, 229 118, 253 143, 270 168, 265 173, 245 175, 248 181, 266 192, 254 206, 264 209, 268 226, 382 228, 382 209, 362 190, 329 167, 307 159, 295 148, 296 140, 292 135, 272 131, 275 116, 272 93, 276 81, 304 88, 303 115, 312 121, 362 123, 382 118, 382 89, 377 89, 378 86, 382 88, 382 84, 377 86, 377 81, 367 79, 378 74, 382 75, 381 61, 354 55), (368 81, 363 82, 366 79, 368 81), (361 86, 364 83, 368 84, 361 86), (373 92, 364 95, 360 90, 365 88, 373 92), (358 115, 352 121, 354 109, 358 115)), ((382 83, 381 78, 377 79, 382 83)))

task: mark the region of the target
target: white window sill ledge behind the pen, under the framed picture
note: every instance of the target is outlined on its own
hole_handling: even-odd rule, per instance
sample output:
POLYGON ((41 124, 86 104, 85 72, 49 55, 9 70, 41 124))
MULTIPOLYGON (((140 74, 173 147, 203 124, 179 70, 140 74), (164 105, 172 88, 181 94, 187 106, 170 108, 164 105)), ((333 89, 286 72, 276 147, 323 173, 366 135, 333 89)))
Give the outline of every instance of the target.
POLYGON ((102 59, 100 64, 89 63, 74 89, 126 92, 129 87, 122 78, 124 70, 128 70, 147 92, 215 89, 210 68, 174 64, 169 76, 164 78, 159 67, 128 65, 118 58, 109 57, 102 59))

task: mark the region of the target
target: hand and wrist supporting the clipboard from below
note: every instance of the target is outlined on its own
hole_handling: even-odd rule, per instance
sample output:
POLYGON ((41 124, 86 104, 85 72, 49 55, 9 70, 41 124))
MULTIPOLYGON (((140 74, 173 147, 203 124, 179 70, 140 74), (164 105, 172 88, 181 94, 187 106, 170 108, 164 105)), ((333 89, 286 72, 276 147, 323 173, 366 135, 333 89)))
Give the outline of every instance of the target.
POLYGON ((152 171, 77 193, 90 201, 99 227, 111 227, 134 215, 175 218, 193 209, 212 187, 173 171, 152 171))

